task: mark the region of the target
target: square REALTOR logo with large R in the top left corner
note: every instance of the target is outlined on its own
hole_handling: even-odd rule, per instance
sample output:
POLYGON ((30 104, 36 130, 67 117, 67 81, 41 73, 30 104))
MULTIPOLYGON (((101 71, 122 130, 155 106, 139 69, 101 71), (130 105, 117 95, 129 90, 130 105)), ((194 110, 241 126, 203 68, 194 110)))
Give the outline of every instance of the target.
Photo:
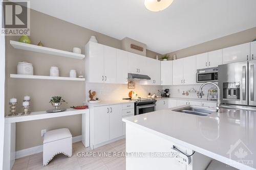
POLYGON ((30 2, 2 1, 1 35, 30 35, 30 2))

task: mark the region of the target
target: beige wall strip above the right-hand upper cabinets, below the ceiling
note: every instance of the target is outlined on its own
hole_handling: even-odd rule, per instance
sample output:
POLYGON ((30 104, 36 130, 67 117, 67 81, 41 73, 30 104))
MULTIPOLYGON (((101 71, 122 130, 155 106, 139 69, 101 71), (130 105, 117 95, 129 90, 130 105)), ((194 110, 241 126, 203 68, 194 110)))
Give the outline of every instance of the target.
POLYGON ((198 45, 190 46, 172 53, 168 53, 168 55, 170 56, 169 60, 173 60, 174 54, 176 54, 177 58, 183 58, 183 57, 193 56, 196 54, 219 50, 221 48, 225 48, 233 45, 250 42, 255 38, 256 38, 256 27, 236 33, 236 34, 231 34, 215 40, 207 41, 198 45))

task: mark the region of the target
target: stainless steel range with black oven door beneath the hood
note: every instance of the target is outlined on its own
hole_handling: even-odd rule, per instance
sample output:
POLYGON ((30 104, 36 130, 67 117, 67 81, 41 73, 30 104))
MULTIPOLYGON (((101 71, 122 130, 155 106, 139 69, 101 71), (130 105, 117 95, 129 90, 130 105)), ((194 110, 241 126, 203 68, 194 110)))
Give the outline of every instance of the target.
POLYGON ((156 111, 156 102, 157 101, 155 99, 146 99, 146 98, 131 99, 131 98, 126 98, 124 100, 135 101, 135 103, 134 103, 134 115, 156 111))

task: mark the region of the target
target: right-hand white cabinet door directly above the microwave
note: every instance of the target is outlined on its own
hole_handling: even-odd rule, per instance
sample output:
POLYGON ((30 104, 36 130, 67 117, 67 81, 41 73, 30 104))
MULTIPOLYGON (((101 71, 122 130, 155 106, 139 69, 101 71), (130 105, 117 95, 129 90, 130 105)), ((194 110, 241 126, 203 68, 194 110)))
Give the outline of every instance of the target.
POLYGON ((218 67, 222 64, 222 49, 208 53, 208 67, 218 67))

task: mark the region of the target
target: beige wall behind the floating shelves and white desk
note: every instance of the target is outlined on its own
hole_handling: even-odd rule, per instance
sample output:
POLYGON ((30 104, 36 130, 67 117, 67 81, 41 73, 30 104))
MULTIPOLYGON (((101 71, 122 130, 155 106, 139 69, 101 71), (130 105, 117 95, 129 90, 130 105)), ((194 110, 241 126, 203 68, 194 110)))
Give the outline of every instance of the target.
MULTIPOLYGON (((76 26, 72 23, 54 18, 31 10, 32 44, 39 41, 45 46, 59 50, 72 51, 73 47, 80 47, 84 54, 84 45, 94 35, 101 44, 121 48, 121 41, 92 30, 76 26)), ((17 98, 17 111, 22 112, 22 100, 25 95, 31 96, 30 110, 42 111, 52 109, 49 100, 53 95, 61 95, 68 104, 63 108, 81 105, 85 100, 85 83, 76 81, 28 80, 12 79, 10 74, 16 74, 16 66, 20 61, 28 61, 34 66, 34 75, 49 76, 49 68, 58 66, 60 76, 69 76, 70 69, 82 71, 84 75, 84 60, 76 60, 60 56, 14 49, 9 41, 17 41, 17 36, 6 36, 6 114, 9 112, 7 101, 17 98)), ((157 55, 150 51, 150 57, 157 55)), ((40 131, 67 127, 73 136, 81 135, 81 115, 36 120, 16 124, 16 150, 35 147, 42 144, 40 131)))

